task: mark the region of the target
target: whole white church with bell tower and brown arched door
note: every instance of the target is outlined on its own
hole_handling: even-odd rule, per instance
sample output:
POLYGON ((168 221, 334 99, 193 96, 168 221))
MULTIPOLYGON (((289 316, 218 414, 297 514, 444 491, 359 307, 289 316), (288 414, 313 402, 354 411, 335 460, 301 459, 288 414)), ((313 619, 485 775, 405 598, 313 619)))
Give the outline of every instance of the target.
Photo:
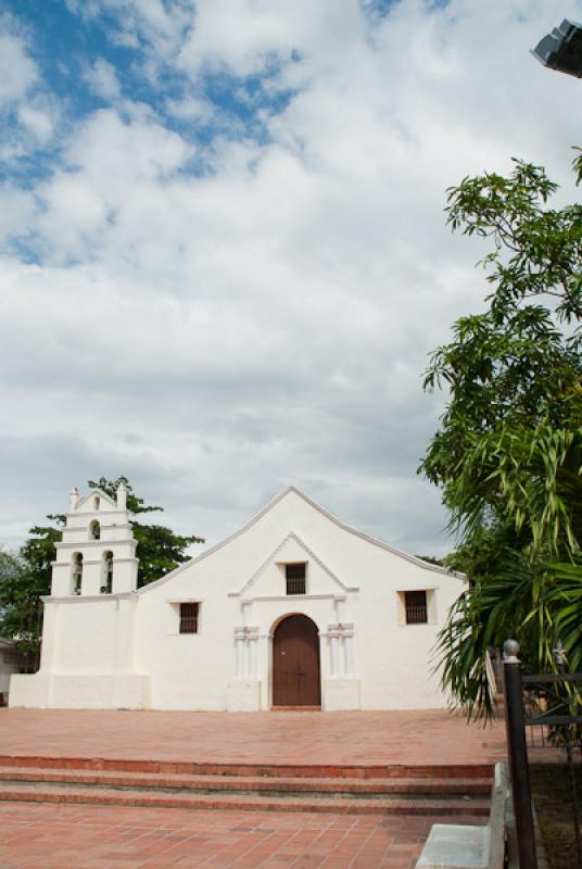
POLYGON ((76 490, 45 602, 39 672, 11 706, 261 710, 446 705, 433 646, 459 575, 350 528, 294 488, 137 588, 114 502, 76 490))

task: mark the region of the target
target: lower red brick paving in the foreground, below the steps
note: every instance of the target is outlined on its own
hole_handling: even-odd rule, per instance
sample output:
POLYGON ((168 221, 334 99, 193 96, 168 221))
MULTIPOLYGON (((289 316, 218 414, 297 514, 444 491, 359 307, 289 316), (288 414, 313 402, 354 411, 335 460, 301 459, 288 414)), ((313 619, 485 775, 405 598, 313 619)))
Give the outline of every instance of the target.
POLYGON ((412 869, 433 822, 0 804, 2 869, 412 869))

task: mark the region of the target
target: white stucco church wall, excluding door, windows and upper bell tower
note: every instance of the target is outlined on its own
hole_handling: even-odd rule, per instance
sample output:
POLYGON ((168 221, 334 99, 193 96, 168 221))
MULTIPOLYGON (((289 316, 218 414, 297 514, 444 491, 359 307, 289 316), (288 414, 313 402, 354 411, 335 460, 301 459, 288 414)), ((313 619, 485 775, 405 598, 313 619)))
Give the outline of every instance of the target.
POLYGON ((444 706, 431 651, 461 590, 459 577, 346 530, 291 489, 138 592, 48 599, 41 671, 13 679, 11 705, 268 709, 274 629, 302 613, 320 634, 324 708, 444 706), (282 565, 299 561, 307 593, 288 597, 282 565), (420 589, 432 624, 404 625, 398 592, 420 589), (198 633, 179 633, 180 602, 199 603, 198 633))

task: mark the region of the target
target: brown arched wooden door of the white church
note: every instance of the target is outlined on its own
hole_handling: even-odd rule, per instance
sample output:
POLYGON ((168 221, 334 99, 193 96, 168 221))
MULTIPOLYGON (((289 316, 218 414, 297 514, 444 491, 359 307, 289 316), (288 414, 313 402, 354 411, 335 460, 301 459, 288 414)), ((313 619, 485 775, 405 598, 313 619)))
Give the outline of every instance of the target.
POLYGON ((273 705, 319 706, 319 634, 307 616, 288 616, 273 638, 273 705))

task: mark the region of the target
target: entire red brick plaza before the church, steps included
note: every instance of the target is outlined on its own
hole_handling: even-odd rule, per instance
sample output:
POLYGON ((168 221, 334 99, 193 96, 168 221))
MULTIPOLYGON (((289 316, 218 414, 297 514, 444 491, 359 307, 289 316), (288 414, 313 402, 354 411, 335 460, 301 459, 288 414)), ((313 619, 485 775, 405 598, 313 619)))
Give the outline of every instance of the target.
POLYGON ((446 796, 451 777, 459 782, 463 777, 467 786, 472 781, 478 794, 483 770, 504 757, 503 722, 483 729, 439 710, 236 715, 0 709, 0 867, 412 869, 432 823, 485 820, 479 796, 471 805, 481 807, 476 809, 480 817, 471 817, 469 808, 457 814, 464 804, 446 796), (126 785, 139 785, 141 776, 146 786, 153 769, 159 779, 165 777, 164 796, 160 805, 140 805, 141 791, 126 785), (9 798, 15 773, 22 779, 17 802, 9 798), (199 786, 202 774, 206 790, 195 801, 207 808, 195 807, 195 801, 190 807, 162 807, 191 801, 185 795, 190 792, 169 788, 178 779, 199 786), (94 797, 86 782, 99 776, 109 777, 109 790, 101 793, 113 804, 87 804, 94 797), (354 801, 346 809, 340 799, 344 806, 337 811, 326 794, 315 802, 305 796, 305 809, 314 810, 298 810, 296 795, 283 799, 281 808, 277 795, 267 795, 273 809, 267 811, 260 807, 261 794, 257 799, 230 793, 217 801, 211 793, 227 780, 253 794, 260 786, 295 792, 306 781, 341 792, 346 786, 342 776, 359 781, 362 789, 374 789, 382 776, 384 783, 393 782, 390 791, 396 791, 389 802, 382 794, 370 799, 365 791, 356 809, 354 801), (423 801, 422 813, 422 801, 406 799, 420 780, 434 797, 423 801), (73 793, 78 782, 84 782, 80 793, 73 793), (251 802, 243 809, 245 799, 251 802), (216 807, 225 802, 232 808, 216 807), (384 811, 384 806, 391 808, 384 811))

